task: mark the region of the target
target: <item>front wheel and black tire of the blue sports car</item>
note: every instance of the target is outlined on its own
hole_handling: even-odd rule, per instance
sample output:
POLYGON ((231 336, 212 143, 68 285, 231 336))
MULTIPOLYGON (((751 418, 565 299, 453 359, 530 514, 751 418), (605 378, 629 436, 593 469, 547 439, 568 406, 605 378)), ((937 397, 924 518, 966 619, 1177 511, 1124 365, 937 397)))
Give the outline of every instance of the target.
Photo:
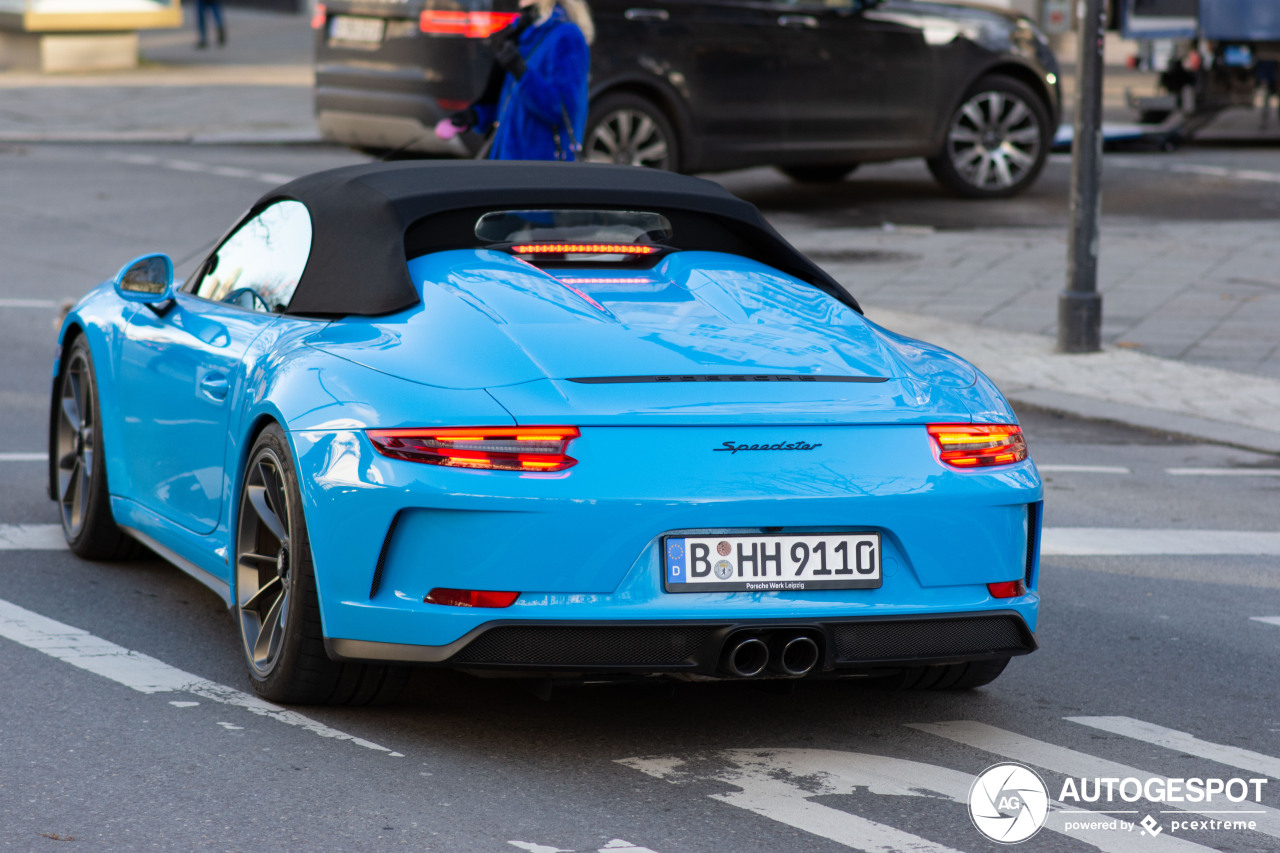
POLYGON ((55 394, 49 451, 67 546, 86 560, 128 560, 145 553, 111 516, 97 374, 83 337, 76 338, 61 361, 55 394))

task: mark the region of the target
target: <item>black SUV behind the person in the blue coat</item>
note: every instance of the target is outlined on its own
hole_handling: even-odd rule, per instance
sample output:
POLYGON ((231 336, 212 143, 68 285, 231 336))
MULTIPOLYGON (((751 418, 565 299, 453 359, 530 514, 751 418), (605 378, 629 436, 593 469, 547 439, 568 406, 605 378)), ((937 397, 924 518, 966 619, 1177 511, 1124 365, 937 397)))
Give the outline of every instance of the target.
MULTIPOLYGON (((1057 65, 1025 18, 916 0, 595 0, 585 155, 680 172, 776 165, 838 181, 927 158, 961 196, 1036 179, 1057 65)), ((328 0, 316 117, 337 142, 456 154, 431 127, 484 88, 516 0, 328 0)))

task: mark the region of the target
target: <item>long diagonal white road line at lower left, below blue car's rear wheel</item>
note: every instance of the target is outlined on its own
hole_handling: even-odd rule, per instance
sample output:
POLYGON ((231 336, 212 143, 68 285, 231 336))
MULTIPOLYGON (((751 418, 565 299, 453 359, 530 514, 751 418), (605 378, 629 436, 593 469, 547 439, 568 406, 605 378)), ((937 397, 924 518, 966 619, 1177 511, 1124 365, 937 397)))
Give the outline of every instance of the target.
POLYGON ((83 629, 64 625, 3 599, 0 599, 0 637, 6 637, 27 648, 44 652, 95 675, 101 675, 138 693, 191 693, 202 699, 243 708, 250 713, 297 726, 321 738, 349 740, 358 747, 403 758, 401 753, 392 752, 371 740, 330 729, 296 711, 288 711, 256 695, 183 672, 164 661, 129 651, 83 629))

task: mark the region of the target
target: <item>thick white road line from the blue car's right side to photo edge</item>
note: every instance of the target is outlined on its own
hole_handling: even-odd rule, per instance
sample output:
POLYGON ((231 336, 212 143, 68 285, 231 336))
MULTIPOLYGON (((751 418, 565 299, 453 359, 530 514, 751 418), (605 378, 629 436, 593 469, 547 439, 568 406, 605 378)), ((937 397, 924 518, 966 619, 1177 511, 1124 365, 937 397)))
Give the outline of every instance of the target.
POLYGON ((1280 556, 1280 533, 1256 530, 1135 530, 1046 528, 1041 553, 1079 556, 1280 556))

